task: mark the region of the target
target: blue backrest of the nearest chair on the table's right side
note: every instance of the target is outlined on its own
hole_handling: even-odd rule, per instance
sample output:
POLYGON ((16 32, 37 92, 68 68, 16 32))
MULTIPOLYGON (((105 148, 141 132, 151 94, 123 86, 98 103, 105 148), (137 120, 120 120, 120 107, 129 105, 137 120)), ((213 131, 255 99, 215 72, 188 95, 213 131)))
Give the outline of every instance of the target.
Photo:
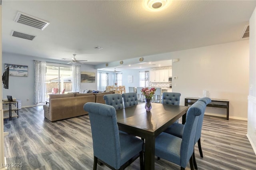
POLYGON ((180 147, 180 157, 182 167, 186 167, 190 157, 194 152, 196 128, 199 116, 204 112, 206 104, 202 101, 194 103, 187 112, 186 123, 183 128, 182 142, 180 147))

